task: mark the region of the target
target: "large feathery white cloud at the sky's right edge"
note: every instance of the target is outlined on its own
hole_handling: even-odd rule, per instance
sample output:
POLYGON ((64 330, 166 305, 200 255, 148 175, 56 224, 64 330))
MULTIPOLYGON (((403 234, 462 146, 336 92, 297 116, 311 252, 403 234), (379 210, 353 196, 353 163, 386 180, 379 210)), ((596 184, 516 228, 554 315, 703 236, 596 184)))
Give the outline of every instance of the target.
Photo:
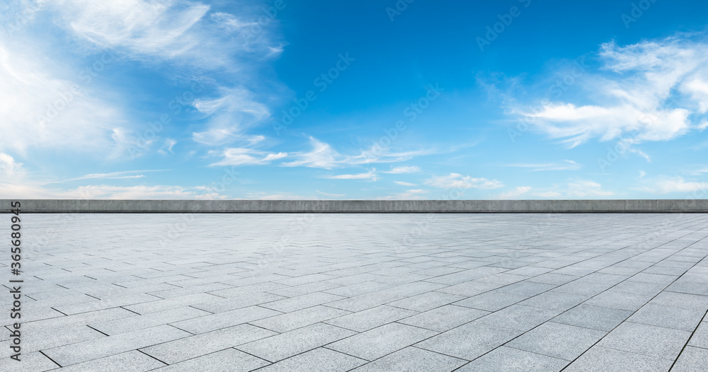
POLYGON ((599 58, 604 71, 578 79, 588 91, 583 102, 542 101, 512 112, 570 146, 595 137, 664 141, 701 129, 692 117, 708 110, 706 42, 683 36, 624 47, 609 42, 599 58))

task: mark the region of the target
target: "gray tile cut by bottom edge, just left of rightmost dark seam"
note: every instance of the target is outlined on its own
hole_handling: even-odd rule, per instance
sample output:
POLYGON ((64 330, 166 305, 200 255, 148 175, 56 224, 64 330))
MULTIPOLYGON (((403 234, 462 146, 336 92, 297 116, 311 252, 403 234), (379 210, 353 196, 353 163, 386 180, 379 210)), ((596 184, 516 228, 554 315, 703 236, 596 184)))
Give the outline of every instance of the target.
POLYGON ((595 346, 573 361, 564 372, 666 372, 671 364, 668 359, 595 346))

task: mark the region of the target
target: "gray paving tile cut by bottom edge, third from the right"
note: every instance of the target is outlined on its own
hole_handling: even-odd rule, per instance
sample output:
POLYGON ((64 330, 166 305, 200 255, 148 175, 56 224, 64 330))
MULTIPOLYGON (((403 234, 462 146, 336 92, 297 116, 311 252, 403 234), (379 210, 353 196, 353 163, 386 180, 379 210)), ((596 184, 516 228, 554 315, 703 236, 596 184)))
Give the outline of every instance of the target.
POLYGON ((561 371, 568 361, 528 351, 499 347, 489 354, 462 366, 460 372, 554 372, 561 371))

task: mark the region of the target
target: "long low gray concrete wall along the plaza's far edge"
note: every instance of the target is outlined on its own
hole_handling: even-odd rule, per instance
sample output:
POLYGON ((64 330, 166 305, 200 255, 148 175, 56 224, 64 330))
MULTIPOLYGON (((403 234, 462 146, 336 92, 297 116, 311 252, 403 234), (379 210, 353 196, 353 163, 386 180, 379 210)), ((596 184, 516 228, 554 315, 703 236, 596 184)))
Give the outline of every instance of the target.
POLYGON ((663 200, 47 200, 22 213, 708 213, 708 199, 663 200))

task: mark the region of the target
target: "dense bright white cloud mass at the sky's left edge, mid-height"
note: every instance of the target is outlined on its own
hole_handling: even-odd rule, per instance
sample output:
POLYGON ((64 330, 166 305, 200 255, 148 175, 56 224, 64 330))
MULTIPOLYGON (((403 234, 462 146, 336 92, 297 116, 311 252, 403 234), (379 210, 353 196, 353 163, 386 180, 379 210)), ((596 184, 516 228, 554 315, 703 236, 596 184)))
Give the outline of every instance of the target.
MULTIPOLYGON (((0 34, 1 36, 1 34, 0 34)), ((42 52, 0 39, 0 151, 31 147, 106 152, 123 122, 87 86, 59 79, 42 52)))

